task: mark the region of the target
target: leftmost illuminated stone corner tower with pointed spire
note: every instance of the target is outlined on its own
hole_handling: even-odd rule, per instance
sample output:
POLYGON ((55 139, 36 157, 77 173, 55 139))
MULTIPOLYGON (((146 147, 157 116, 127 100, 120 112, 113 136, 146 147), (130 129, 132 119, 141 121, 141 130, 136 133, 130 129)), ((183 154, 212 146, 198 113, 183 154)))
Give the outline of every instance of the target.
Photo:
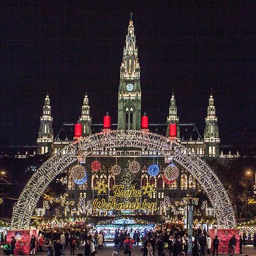
POLYGON ((49 102, 49 95, 47 93, 44 100, 43 115, 40 117, 40 126, 38 133, 38 154, 43 155, 51 153, 53 143, 53 118, 51 116, 51 106, 49 102))

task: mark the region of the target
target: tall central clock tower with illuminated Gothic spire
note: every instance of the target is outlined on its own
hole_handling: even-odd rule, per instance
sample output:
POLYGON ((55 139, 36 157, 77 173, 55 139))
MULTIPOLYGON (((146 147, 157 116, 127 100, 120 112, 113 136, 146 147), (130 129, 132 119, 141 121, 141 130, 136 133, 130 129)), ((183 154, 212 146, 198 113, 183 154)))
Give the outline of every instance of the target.
POLYGON ((134 35, 133 13, 123 47, 118 89, 118 129, 141 130, 141 68, 134 35))

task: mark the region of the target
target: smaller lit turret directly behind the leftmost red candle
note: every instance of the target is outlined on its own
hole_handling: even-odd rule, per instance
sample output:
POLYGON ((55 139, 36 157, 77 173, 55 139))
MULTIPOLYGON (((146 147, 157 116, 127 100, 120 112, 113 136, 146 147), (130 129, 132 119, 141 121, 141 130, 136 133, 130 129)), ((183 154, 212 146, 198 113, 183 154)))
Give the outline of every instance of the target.
POLYGON ((82 105, 82 114, 78 123, 82 124, 82 137, 92 134, 92 117, 90 117, 90 106, 87 93, 84 96, 84 103, 82 105))

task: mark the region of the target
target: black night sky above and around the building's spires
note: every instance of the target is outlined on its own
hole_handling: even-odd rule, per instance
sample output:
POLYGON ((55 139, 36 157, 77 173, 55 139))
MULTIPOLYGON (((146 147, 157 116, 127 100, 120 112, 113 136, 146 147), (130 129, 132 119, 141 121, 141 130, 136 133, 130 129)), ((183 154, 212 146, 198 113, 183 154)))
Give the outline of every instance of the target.
POLYGON ((180 122, 203 134, 213 88, 222 144, 255 138, 255 1, 3 1, 0 144, 36 143, 47 92, 55 135, 86 90, 92 122, 117 122, 131 10, 150 122, 166 122, 174 87, 180 122))

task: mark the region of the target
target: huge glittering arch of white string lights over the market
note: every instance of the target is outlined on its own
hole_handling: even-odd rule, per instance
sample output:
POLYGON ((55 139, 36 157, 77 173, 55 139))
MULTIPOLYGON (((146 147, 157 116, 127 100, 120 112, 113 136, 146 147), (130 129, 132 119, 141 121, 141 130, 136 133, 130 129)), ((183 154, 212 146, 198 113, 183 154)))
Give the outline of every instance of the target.
POLYGON ((216 212, 218 226, 235 228, 236 217, 221 181, 212 169, 196 154, 184 154, 185 148, 162 135, 145 131, 114 130, 90 135, 81 141, 69 144, 42 164, 28 181, 13 210, 11 228, 27 229, 38 200, 49 183, 77 160, 77 155, 172 156, 200 183, 216 212), (137 151, 123 151, 118 148, 137 148, 137 151))

